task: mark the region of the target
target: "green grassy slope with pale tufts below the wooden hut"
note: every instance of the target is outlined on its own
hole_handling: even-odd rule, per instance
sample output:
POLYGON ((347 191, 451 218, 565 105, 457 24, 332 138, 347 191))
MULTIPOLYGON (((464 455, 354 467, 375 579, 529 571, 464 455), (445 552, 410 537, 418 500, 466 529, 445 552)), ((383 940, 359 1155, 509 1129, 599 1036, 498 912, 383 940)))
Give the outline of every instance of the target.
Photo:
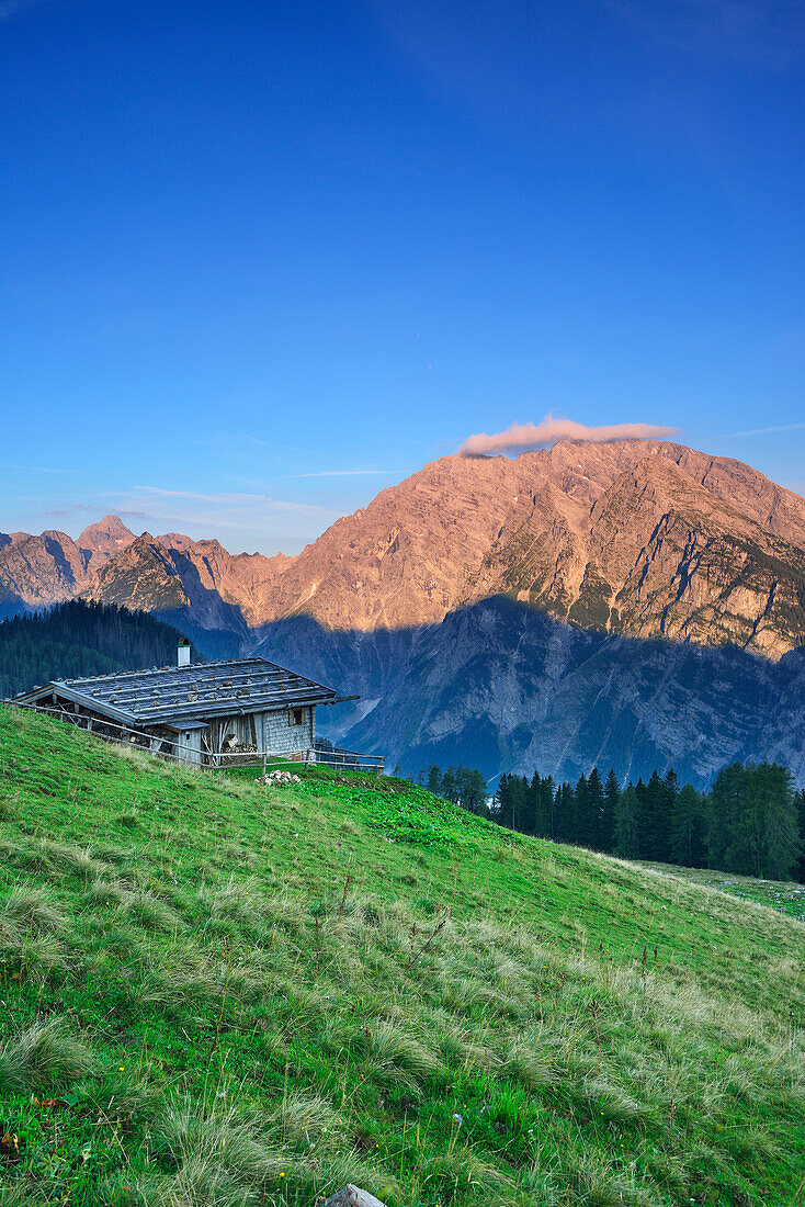
POLYGON ((792 919, 1 709, 0 775, 0 1202, 805 1202, 792 919))

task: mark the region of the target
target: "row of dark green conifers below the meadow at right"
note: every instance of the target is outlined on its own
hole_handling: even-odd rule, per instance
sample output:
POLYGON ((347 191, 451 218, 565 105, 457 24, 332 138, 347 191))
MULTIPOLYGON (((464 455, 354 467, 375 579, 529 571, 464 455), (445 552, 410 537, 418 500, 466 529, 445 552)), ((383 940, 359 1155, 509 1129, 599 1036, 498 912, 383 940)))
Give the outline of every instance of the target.
POLYGON ((625 787, 614 771, 602 781, 597 768, 576 785, 503 774, 491 800, 482 774, 468 768, 431 766, 420 782, 521 834, 626 859, 805 882, 805 789, 795 791, 776 763, 733 763, 706 793, 679 786, 672 770, 625 787))

